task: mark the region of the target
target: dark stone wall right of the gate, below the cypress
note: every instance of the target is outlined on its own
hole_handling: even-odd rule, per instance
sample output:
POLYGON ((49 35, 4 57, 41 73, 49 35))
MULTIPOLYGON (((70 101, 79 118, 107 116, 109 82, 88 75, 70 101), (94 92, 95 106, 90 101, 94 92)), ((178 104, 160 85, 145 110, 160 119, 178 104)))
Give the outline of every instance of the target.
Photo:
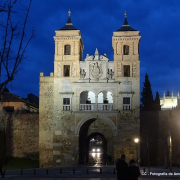
POLYGON ((180 166, 180 109, 141 112, 141 165, 169 166, 167 138, 172 138, 172 164, 180 166), (148 147, 147 147, 148 144, 148 147))

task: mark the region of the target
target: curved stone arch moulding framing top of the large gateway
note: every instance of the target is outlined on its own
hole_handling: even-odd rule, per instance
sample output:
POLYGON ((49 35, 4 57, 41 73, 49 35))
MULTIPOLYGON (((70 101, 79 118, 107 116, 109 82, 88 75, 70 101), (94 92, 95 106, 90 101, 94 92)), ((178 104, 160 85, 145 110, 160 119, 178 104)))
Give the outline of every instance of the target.
POLYGON ((77 125, 76 125, 76 129, 75 129, 75 135, 79 136, 79 132, 80 132, 80 129, 82 127, 82 125, 84 123, 86 123, 87 121, 91 120, 91 119, 101 119, 101 120, 104 120, 111 128, 112 128, 112 131, 114 132, 114 136, 117 135, 117 127, 116 125, 113 123, 113 121, 108 118, 107 116, 103 116, 103 115, 91 115, 91 116, 88 116, 88 117, 85 117, 83 120, 81 120, 77 125))

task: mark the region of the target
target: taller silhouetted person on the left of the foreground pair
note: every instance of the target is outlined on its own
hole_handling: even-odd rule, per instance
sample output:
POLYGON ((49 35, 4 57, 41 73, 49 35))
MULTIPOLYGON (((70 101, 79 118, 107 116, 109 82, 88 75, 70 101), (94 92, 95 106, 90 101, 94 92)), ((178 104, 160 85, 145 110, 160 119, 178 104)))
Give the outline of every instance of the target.
POLYGON ((121 158, 116 163, 117 179, 127 180, 128 179, 128 164, 125 162, 125 155, 122 154, 121 158))

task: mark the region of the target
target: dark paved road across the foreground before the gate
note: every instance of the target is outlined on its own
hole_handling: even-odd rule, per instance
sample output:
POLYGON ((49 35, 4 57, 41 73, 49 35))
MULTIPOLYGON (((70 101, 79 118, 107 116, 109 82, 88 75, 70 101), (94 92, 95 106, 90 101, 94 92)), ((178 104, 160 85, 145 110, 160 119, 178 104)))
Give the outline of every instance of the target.
MULTIPOLYGON (((5 173, 4 179, 12 180, 117 180, 115 166, 19 169, 5 173)), ((144 168, 141 168, 141 173, 139 180, 180 180, 180 168, 173 168, 173 173, 170 173, 168 169, 150 168, 151 176, 147 175, 148 168, 145 168, 145 172, 144 168)))

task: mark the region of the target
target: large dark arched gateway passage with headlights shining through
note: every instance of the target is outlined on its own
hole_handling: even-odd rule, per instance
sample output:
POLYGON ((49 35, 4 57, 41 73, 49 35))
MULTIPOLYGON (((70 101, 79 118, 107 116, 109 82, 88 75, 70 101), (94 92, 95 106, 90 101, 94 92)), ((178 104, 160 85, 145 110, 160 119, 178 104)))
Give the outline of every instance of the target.
MULTIPOLYGON (((114 128, 113 128, 114 129, 114 128)), ((112 163, 114 156, 112 127, 106 120, 92 118, 79 128, 79 164, 112 163)))

